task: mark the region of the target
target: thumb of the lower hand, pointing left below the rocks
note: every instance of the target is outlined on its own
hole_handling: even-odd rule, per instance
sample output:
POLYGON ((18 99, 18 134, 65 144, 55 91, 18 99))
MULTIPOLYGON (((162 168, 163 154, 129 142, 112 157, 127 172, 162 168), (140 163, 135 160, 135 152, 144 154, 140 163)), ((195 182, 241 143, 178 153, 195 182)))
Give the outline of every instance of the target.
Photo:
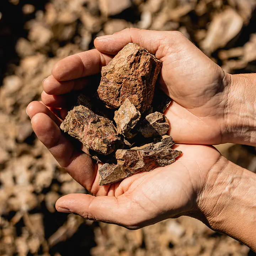
POLYGON ((91 196, 89 194, 68 194, 58 199, 58 212, 74 213, 89 220, 107 222, 135 229, 131 212, 134 211, 125 196, 91 196))

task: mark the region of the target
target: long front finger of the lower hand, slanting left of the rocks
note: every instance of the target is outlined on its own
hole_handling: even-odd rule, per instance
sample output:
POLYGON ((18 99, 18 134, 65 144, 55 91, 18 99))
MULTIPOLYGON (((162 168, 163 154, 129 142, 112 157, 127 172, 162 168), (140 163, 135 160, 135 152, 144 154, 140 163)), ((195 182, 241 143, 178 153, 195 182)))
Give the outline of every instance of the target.
POLYGON ((48 111, 44 110, 32 116, 31 123, 35 134, 59 164, 77 182, 90 191, 97 173, 96 165, 87 154, 77 149, 65 137, 57 124, 50 118, 50 111, 48 111))

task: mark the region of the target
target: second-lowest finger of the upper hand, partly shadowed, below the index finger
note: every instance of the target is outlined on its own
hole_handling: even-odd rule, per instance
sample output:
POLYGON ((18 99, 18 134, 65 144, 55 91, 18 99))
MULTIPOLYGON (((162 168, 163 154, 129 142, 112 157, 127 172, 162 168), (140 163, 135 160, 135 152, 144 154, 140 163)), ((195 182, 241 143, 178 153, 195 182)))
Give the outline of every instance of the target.
POLYGON ((43 80, 43 89, 49 95, 67 94, 72 90, 82 90, 89 83, 88 78, 74 79, 70 81, 58 81, 53 75, 43 80))

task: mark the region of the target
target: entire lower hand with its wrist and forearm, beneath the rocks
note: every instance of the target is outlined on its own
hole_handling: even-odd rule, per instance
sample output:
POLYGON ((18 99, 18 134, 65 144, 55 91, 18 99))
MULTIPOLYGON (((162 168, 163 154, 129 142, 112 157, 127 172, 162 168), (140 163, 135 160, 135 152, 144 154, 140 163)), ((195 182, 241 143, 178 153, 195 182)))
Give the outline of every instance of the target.
POLYGON ((61 120, 40 102, 30 103, 27 113, 54 158, 93 194, 60 198, 59 212, 129 229, 187 215, 256 250, 256 175, 211 146, 177 145, 183 155, 174 164, 100 187, 97 166, 60 132, 61 120))

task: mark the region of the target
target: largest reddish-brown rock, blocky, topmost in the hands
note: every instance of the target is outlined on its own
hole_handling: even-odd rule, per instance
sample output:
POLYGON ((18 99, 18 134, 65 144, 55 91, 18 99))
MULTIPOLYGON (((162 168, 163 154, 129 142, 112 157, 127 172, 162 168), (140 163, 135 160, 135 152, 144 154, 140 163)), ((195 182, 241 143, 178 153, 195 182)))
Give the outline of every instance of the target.
POLYGON ((98 96, 110 108, 129 98, 143 113, 152 103, 162 62, 138 44, 129 43, 102 68, 98 96))

